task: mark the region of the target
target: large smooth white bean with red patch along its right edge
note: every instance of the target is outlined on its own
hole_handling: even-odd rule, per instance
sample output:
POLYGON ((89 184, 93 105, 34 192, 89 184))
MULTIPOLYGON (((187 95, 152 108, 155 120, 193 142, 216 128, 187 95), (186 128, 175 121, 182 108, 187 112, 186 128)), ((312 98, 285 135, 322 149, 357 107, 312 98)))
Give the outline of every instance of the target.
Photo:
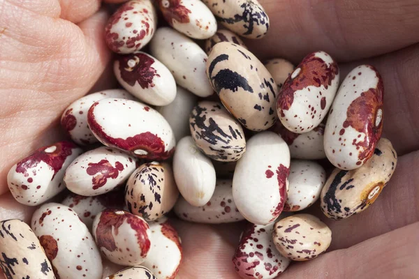
POLYGON ((240 213, 256 225, 273 222, 287 198, 290 152, 286 142, 272 132, 253 135, 237 162, 233 198, 240 213))

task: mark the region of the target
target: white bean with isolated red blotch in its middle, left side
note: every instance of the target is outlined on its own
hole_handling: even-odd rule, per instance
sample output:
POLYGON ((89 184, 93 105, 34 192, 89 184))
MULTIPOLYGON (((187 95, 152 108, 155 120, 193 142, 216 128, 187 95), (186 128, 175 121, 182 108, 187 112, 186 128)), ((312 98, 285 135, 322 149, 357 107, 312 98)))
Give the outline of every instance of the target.
POLYGON ((128 179, 135 160, 118 149, 102 146, 78 156, 66 169, 64 182, 75 194, 102 195, 128 179))

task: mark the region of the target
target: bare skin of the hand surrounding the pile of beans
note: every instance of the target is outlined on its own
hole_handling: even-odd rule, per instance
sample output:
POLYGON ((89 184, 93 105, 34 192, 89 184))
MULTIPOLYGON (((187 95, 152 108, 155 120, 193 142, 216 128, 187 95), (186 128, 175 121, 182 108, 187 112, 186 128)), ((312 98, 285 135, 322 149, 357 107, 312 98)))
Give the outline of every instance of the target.
MULTIPOLYGON (((263 42, 247 41, 260 59, 298 63, 309 52, 325 50, 339 61, 342 77, 361 63, 378 68, 385 86, 383 136, 399 153, 392 180, 367 211, 337 222, 326 220, 318 204, 309 209, 332 229, 332 245, 317 259, 291 264, 281 279, 418 278, 419 38, 412 32, 419 29, 418 1, 260 3, 270 15, 271 31, 263 42)), ((98 0, 0 0, 0 220, 30 220, 34 211, 8 193, 10 167, 61 138, 59 116, 73 100, 115 88, 103 40, 108 14, 99 5, 98 0)), ((196 266, 203 279, 238 278, 230 261, 242 225, 177 221, 188 259, 179 278, 194 278, 196 266)))

